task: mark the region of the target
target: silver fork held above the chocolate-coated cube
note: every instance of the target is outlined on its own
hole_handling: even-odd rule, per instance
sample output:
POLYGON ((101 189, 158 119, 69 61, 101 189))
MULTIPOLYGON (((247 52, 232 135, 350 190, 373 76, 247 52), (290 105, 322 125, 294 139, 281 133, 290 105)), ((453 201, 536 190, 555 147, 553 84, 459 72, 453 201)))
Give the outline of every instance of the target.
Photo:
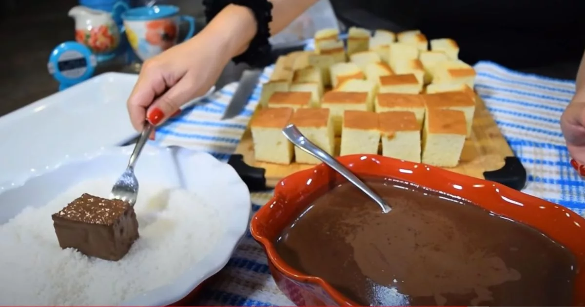
POLYGON ((140 133, 136 146, 134 147, 132 154, 130 154, 128 167, 126 167, 126 171, 124 171, 112 187, 112 192, 110 192, 111 199, 121 199, 122 201, 130 203, 132 206, 136 203, 139 185, 136 175, 134 175, 134 165, 136 164, 136 160, 138 160, 138 156, 140 156, 140 152, 142 152, 144 144, 146 144, 153 129, 154 127, 150 125, 149 122, 144 123, 142 133, 140 133))

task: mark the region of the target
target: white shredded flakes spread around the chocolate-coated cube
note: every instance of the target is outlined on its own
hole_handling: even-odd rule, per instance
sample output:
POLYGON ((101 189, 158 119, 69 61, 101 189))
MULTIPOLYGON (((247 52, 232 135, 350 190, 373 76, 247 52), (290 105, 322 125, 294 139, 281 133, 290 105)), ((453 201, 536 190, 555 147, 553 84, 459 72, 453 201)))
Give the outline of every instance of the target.
POLYGON ((51 214, 84 192, 108 197, 112 182, 81 182, 0 225, 0 305, 116 305, 169 284, 223 234, 212 204, 192 192, 141 182, 135 205, 140 238, 122 260, 62 250, 51 214))

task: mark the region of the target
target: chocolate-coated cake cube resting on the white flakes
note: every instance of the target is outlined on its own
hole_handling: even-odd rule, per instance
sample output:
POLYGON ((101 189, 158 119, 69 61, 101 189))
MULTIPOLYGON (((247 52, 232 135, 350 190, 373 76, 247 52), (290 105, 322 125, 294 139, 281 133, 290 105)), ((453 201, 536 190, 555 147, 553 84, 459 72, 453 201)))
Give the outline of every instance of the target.
POLYGON ((83 194, 52 217, 61 248, 87 256, 118 261, 138 239, 134 208, 118 199, 83 194))

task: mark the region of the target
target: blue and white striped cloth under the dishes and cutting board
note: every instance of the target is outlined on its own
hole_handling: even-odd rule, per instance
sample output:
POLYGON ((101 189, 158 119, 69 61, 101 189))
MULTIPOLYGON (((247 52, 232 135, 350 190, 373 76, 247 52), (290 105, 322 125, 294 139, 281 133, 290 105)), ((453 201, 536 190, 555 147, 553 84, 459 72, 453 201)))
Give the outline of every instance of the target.
MULTIPOLYGON (((476 91, 528 172, 524 192, 583 215, 585 181, 569 164, 559 126, 560 115, 574 94, 574 82, 522 74, 490 62, 478 63, 475 68, 476 91)), ((264 71, 263 81, 270 73, 270 68, 264 71)), ((228 158, 256 108, 260 93, 257 87, 242 114, 221 121, 235 88, 235 84, 230 84, 185 111, 180 118, 171 120, 157 130, 156 143, 206 150, 220 159, 228 158)), ((256 202, 263 205, 266 200, 258 198, 256 202)), ((253 206, 254 211, 260 208, 258 205, 253 206)), ((222 270, 220 279, 209 284, 195 303, 200 306, 292 305, 278 291, 263 250, 249 233, 222 270)))

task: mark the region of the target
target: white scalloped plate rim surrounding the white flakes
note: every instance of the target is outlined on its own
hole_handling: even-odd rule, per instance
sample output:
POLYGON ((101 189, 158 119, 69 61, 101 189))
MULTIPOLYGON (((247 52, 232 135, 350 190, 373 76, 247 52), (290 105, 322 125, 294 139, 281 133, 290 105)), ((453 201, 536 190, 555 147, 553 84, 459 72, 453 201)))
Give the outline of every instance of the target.
MULTIPOLYGON (((50 202, 78 182, 118 177, 128 163, 132 147, 86 154, 23 182, 0 187, 0 224, 18 215, 26 206, 35 207, 50 202)), ((171 284, 122 303, 128 306, 164 306, 184 298, 228 263, 246 233, 252 202, 246 185, 236 171, 207 153, 195 153, 178 147, 161 149, 147 144, 137 161, 136 176, 142 182, 153 180, 168 187, 182 187, 194 192, 207 203, 221 208, 220 218, 225 221, 225 232, 196 265, 171 284)))

